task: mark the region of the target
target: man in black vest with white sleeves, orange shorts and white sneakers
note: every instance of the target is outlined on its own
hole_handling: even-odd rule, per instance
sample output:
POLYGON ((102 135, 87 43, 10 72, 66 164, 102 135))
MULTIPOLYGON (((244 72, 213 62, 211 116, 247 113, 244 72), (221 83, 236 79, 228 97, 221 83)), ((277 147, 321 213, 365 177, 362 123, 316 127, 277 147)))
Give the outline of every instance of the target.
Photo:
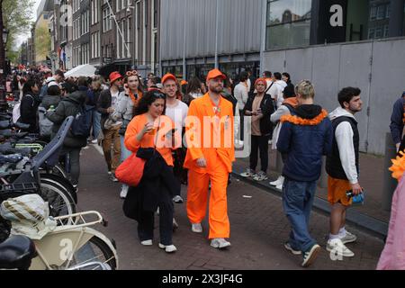
POLYGON ((356 236, 345 229, 347 207, 352 204, 347 192, 354 195, 362 193, 358 182, 359 132, 355 118, 356 112, 362 111, 360 94, 358 88, 344 88, 338 94, 341 107, 329 115, 334 139, 326 164, 329 175, 328 200, 332 205, 327 250, 342 257, 355 256, 345 245, 356 241, 356 236))

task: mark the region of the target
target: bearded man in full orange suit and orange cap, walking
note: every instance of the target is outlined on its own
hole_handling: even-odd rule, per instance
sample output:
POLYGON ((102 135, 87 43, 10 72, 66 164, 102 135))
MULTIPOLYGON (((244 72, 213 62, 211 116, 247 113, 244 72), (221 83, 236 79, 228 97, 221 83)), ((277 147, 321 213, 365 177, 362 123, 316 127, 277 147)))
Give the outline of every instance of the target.
POLYGON ((187 155, 184 167, 189 169, 187 215, 195 233, 202 233, 211 182, 209 225, 211 246, 229 247, 229 219, 227 207, 228 176, 235 161, 233 146, 232 103, 223 98, 220 70, 213 69, 207 76, 209 92, 190 104, 185 121, 187 155))

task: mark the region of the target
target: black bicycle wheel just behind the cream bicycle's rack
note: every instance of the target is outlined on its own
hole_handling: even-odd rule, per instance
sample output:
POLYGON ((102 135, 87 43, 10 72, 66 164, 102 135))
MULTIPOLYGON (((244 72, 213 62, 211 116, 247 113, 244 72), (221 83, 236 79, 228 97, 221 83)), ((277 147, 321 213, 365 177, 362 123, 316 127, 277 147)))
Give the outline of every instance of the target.
POLYGON ((49 216, 58 217, 76 213, 76 205, 69 193, 48 179, 40 179, 40 196, 49 203, 49 216))

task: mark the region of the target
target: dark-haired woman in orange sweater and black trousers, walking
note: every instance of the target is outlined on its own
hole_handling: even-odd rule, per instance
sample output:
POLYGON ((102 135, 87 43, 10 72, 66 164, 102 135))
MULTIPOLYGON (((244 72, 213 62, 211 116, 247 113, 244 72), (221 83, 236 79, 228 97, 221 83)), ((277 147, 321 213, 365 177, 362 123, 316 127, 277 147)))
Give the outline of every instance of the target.
MULTIPOLYGON (((172 202, 178 187, 173 175, 172 151, 175 141, 167 138, 174 127, 173 121, 164 115, 166 95, 159 90, 148 91, 135 109, 125 133, 124 144, 131 153, 146 159, 143 177, 136 187, 130 187, 124 201, 125 207, 135 214, 138 236, 143 246, 153 245, 155 211, 159 209, 160 242, 158 247, 166 253, 177 250, 173 245, 172 202)), ((132 217, 130 217, 132 218, 132 217)))

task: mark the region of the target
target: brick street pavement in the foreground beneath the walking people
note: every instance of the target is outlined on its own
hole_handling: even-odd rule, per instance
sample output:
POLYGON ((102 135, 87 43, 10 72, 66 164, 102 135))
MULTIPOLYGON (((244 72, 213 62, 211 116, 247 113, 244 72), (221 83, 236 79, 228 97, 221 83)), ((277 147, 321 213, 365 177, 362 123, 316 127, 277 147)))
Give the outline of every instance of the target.
MULTIPOLYGON (((203 234, 194 234, 186 217, 185 203, 175 204, 175 219, 180 228, 174 234, 174 244, 178 251, 173 255, 167 255, 157 247, 158 229, 155 229, 154 246, 142 247, 139 244, 136 222, 125 218, 122 212, 122 200, 119 197, 121 185, 109 180, 103 157, 94 146, 82 152, 79 189, 78 210, 100 211, 109 221, 107 228, 94 228, 116 241, 121 269, 302 269, 302 258, 293 256, 283 247, 290 227, 284 216, 281 198, 238 179, 232 179, 228 190, 232 246, 225 251, 210 247, 207 221, 202 222, 203 234)), ((183 196, 185 200, 185 187, 183 196)), ((317 261, 308 269, 375 269, 383 250, 383 241, 354 227, 347 226, 347 229, 358 236, 356 243, 347 245, 356 256, 332 261, 329 252, 325 250, 329 217, 312 212, 311 235, 323 249, 317 261)))

